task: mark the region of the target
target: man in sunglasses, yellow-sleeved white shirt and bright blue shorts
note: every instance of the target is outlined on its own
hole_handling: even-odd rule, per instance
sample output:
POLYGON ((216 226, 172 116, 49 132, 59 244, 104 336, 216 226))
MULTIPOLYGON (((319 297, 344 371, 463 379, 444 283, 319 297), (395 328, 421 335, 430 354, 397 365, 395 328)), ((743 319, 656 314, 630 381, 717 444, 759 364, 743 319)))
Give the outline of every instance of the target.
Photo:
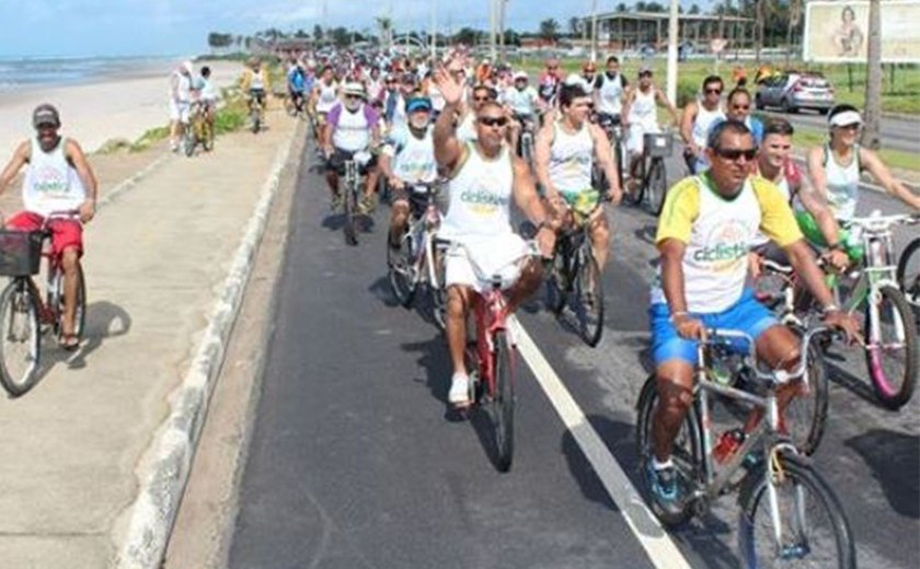
MULTIPOLYGON (((646 465, 653 499, 663 510, 681 509, 671 446, 693 400, 697 346, 706 329, 726 328, 755 338, 758 358, 772 369, 792 370, 798 339, 746 287, 748 251, 758 229, 781 246, 805 286, 824 307, 825 322, 858 338, 855 321, 833 304, 812 251, 783 196, 750 175, 757 155, 750 130, 736 120, 716 125, 705 152, 711 169, 678 182, 667 194, 656 244, 658 278, 648 309, 659 405, 652 418, 654 456, 646 465)), ((798 383, 778 392, 781 411, 798 383)), ((748 417, 746 432, 761 417, 748 417)))

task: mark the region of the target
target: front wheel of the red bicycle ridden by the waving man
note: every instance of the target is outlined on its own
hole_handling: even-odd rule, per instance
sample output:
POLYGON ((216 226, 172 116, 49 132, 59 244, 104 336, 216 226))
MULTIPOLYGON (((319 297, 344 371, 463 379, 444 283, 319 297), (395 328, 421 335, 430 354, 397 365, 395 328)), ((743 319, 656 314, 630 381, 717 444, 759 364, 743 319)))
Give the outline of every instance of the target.
POLYGON ((495 465, 503 473, 511 468, 515 452, 514 350, 504 332, 495 333, 495 347, 492 352, 495 385, 490 406, 492 423, 495 428, 495 465))

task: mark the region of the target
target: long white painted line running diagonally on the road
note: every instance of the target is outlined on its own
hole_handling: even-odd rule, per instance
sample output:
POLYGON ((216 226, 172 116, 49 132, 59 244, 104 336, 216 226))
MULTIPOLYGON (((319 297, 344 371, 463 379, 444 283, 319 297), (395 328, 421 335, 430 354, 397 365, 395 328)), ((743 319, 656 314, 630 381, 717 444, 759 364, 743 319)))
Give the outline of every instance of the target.
POLYGON ((509 322, 514 323, 511 325, 515 326, 518 352, 530 367, 533 376, 537 378, 537 383, 543 388, 562 422, 578 442, 582 452, 591 463, 607 493, 617 503, 626 524, 629 524, 642 547, 645 548, 648 558, 655 567, 690 569, 691 566, 687 558, 683 557, 668 533, 645 506, 645 501, 630 483, 620 463, 610 454, 600 436, 588 422, 585 413, 575 403, 572 394, 568 393, 547 358, 533 344, 530 335, 514 316, 509 318, 509 322))

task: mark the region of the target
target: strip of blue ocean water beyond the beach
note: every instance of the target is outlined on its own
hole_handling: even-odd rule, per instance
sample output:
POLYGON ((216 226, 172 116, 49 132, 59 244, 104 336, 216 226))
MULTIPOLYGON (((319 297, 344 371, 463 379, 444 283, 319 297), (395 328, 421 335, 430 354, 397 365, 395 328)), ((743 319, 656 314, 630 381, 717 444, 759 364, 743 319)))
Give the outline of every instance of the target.
POLYGON ((179 57, 0 57, 0 92, 162 71, 164 66, 180 60, 179 57))

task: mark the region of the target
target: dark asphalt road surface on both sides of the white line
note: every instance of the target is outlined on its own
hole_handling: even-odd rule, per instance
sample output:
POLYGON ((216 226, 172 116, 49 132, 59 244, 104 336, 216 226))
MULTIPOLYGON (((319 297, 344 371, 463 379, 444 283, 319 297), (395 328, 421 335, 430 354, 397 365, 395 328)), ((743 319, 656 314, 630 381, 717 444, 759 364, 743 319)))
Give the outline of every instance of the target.
MULTIPOLYGON (((884 196, 864 200, 865 209, 897 209, 884 196)), ((389 210, 348 247, 326 202, 321 178, 304 165, 230 567, 652 567, 628 524, 635 504, 611 498, 605 469, 587 458, 596 453, 583 450, 555 396, 526 365, 515 464, 507 474, 494 468, 481 418, 446 409, 442 337, 389 292, 389 210)), ((609 214, 614 248, 598 348, 538 301, 519 320, 584 411, 580 428, 599 437, 601 452, 635 484, 634 405, 648 365, 655 220, 626 207, 609 214)), ((872 398, 862 356, 832 350, 832 358, 830 418, 816 463, 843 500, 860 567, 916 567, 920 397, 885 411, 872 398)), ((671 533, 691 567, 738 566, 737 515, 728 496, 671 533)))

